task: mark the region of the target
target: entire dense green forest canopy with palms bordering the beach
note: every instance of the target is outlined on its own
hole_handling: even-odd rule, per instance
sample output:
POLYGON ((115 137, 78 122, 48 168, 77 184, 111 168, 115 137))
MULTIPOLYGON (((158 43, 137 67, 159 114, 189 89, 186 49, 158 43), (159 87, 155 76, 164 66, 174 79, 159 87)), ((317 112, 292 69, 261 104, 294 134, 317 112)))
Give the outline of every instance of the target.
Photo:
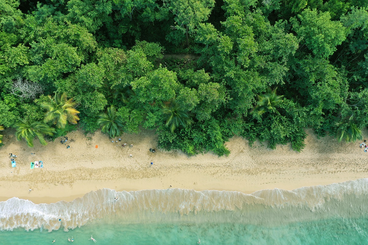
POLYGON ((30 146, 146 128, 190 155, 356 140, 367 50, 362 0, 0 0, 0 125, 30 146))

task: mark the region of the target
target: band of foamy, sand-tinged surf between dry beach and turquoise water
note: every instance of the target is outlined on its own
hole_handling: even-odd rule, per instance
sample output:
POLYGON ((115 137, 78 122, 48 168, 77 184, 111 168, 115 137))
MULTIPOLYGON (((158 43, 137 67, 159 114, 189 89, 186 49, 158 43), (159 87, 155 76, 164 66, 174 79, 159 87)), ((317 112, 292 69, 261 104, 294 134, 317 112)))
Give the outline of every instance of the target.
POLYGON ((105 217, 126 223, 215 220, 271 225, 360 216, 368 213, 367 201, 368 178, 293 191, 266 189, 252 194, 187 189, 116 192, 104 188, 71 202, 34 204, 18 198, 0 202, 0 230, 52 231, 60 227, 68 230, 105 217))

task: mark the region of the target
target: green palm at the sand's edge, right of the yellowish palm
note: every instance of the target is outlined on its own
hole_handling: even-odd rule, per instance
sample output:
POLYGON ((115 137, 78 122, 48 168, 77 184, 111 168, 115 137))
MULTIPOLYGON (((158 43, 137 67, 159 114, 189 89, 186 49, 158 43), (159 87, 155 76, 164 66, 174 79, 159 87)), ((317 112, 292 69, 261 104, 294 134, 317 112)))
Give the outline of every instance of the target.
POLYGON ((109 134, 110 138, 121 135, 123 123, 118 119, 114 106, 107 107, 107 113, 100 113, 98 117, 97 123, 102 126, 103 133, 109 134))

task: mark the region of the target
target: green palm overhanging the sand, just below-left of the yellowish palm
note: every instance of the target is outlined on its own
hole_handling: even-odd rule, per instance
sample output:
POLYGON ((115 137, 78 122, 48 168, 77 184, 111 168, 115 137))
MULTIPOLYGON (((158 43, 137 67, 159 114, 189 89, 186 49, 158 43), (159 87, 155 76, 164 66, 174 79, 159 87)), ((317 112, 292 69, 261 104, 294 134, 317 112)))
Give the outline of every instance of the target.
POLYGON ((14 124, 14 127, 17 128, 15 136, 17 136, 18 141, 22 138, 25 139, 29 147, 33 147, 33 139, 35 137, 38 138, 42 145, 47 145, 44 136, 51 136, 55 132, 55 129, 49 125, 41 122, 32 122, 29 118, 18 117, 18 120, 19 122, 14 124))

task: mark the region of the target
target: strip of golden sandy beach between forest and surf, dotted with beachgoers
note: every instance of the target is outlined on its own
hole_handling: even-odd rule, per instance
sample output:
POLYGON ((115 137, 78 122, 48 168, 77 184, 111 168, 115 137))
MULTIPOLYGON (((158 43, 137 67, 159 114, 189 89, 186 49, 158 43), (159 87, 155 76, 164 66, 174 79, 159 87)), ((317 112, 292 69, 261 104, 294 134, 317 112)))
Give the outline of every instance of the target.
POLYGON ((329 136, 318 139, 312 130, 307 131, 307 146, 300 153, 293 151, 290 145, 278 145, 272 150, 255 142, 250 147, 247 140, 234 136, 226 143, 231 150, 228 157, 212 153, 189 157, 180 151, 161 150, 152 131, 124 134, 121 142, 112 143, 101 132, 85 135, 78 130, 67 135, 70 149, 60 140, 49 142, 47 146, 35 140, 34 148, 29 148, 25 141, 15 139, 13 130, 2 133, 0 201, 12 197, 34 203, 71 201, 101 188, 252 193, 368 177, 368 153, 359 148, 361 142, 337 143, 329 136), (123 147, 123 143, 127 146, 123 147), (151 153, 149 148, 156 148, 156 152, 151 153), (9 153, 18 156, 15 168, 11 167, 9 153), (30 162, 38 160, 43 161, 44 167, 30 169, 30 162), (30 192, 30 188, 33 191, 30 192))

